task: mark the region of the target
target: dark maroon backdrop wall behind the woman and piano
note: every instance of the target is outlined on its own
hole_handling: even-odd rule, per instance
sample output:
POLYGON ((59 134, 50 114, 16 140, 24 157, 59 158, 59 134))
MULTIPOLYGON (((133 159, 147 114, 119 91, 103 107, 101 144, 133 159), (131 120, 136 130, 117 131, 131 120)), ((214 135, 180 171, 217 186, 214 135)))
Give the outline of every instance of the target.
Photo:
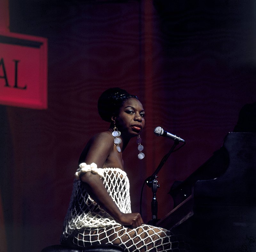
MULTIPOLYGON (((132 210, 142 183, 171 148, 187 144, 159 172, 158 217, 168 191, 222 145, 241 107, 256 100, 255 1, 9 0, 10 31, 48 39, 48 109, 0 106, 0 183, 9 251, 59 242, 77 162, 93 134, 108 129, 97 99, 118 86, 146 110, 141 134, 124 152, 132 210)), ((0 83, 1 84, 1 83, 0 83)), ((151 189, 143 219, 151 219, 151 189)))

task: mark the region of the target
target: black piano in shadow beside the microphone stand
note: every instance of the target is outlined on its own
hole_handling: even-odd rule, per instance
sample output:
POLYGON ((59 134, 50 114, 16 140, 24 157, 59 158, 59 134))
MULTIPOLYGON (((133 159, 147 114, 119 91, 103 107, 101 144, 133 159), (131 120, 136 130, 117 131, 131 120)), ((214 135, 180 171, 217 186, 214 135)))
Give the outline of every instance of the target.
POLYGON ((184 234, 192 252, 256 251, 256 133, 228 133, 169 194, 174 208, 156 226, 184 234))

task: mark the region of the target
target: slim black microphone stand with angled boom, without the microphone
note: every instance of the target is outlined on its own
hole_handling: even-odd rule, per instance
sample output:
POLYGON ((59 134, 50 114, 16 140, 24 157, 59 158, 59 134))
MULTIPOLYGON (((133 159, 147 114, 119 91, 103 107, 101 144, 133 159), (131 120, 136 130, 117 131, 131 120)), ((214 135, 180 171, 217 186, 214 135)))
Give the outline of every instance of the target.
POLYGON ((179 144, 179 142, 180 141, 178 139, 174 140, 174 144, 172 145, 172 148, 170 149, 170 151, 163 157, 163 159, 161 160, 160 164, 158 165, 158 167, 156 168, 154 173, 145 180, 147 186, 152 188, 152 193, 153 193, 153 198, 152 198, 152 201, 151 201, 152 219, 148 222, 148 225, 153 225, 154 226, 157 222, 156 191, 157 191, 157 188, 160 187, 160 185, 157 184, 157 178, 158 178, 157 174, 161 170, 161 168, 163 167, 164 163, 169 158, 171 153, 173 152, 174 148, 179 144))

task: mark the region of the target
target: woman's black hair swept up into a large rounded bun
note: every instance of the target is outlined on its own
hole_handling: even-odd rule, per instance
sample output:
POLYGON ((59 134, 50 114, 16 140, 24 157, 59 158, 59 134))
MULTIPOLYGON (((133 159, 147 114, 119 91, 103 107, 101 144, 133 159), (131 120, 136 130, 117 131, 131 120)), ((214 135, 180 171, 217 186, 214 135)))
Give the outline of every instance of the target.
POLYGON ((100 117, 107 122, 111 122, 113 114, 119 112, 125 100, 136 98, 137 96, 127 93, 124 89, 113 87, 104 91, 98 100, 98 111, 100 117))

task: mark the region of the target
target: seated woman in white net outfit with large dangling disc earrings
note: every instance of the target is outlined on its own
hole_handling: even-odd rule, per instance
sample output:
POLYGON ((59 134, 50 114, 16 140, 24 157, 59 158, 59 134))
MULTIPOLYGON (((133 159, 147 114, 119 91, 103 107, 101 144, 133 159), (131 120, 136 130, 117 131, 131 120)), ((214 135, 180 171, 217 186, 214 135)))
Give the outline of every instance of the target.
POLYGON ((179 246, 184 248, 184 243, 171 232, 145 225, 139 213, 131 213, 122 152, 138 137, 138 157, 144 158, 139 135, 145 125, 142 104, 125 90, 110 88, 100 96, 98 111, 110 127, 92 137, 80 156, 61 243, 112 243, 129 252, 183 250, 179 246))

